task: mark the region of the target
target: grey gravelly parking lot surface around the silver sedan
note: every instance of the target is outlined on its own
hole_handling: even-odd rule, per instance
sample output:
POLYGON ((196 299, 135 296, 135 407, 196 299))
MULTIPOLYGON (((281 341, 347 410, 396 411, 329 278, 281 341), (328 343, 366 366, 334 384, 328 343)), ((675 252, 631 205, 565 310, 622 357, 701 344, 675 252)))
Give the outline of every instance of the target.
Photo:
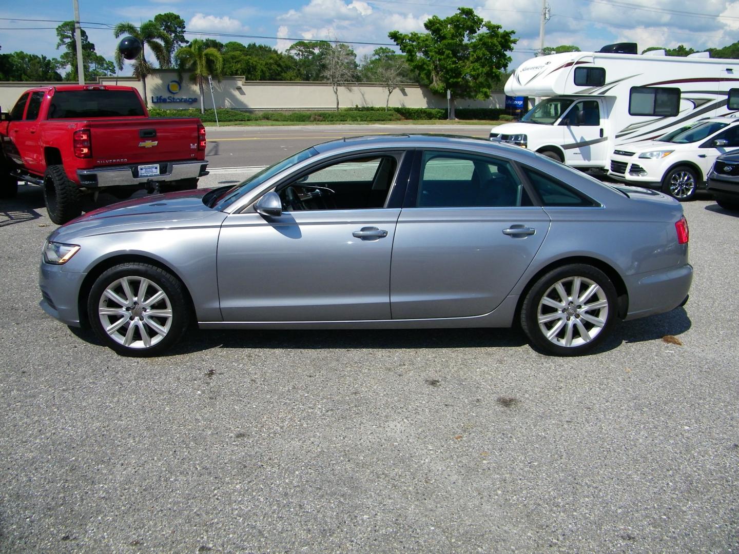
POLYGON ((583 358, 509 329, 120 358, 38 307, 40 189, 0 206, 2 552, 739 550, 739 214, 705 196, 688 304, 583 358))

